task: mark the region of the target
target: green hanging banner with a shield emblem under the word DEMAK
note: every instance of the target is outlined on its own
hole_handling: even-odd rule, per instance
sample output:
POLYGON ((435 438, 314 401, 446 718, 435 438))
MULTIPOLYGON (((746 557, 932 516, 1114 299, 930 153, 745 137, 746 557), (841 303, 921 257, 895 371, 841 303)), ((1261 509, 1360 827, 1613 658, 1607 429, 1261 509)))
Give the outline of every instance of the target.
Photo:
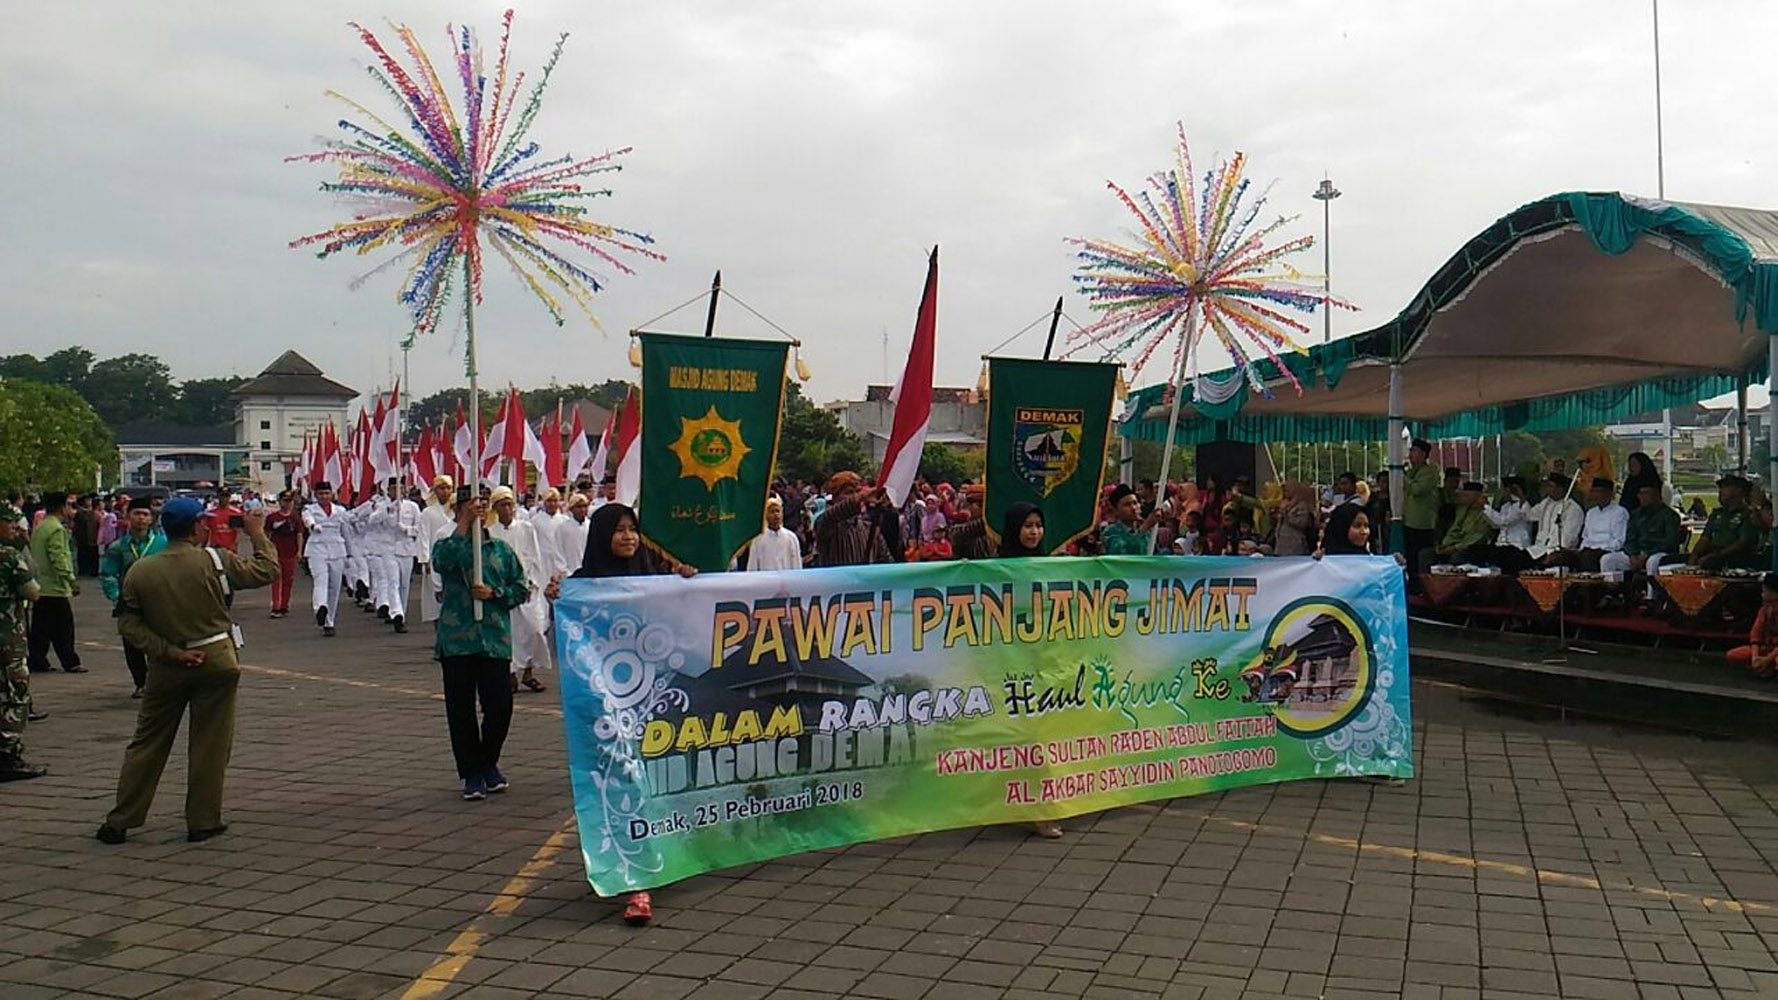
POLYGON ((987 521, 1006 509, 1044 512, 1044 548, 1093 530, 1104 482, 1117 365, 989 358, 987 521))

